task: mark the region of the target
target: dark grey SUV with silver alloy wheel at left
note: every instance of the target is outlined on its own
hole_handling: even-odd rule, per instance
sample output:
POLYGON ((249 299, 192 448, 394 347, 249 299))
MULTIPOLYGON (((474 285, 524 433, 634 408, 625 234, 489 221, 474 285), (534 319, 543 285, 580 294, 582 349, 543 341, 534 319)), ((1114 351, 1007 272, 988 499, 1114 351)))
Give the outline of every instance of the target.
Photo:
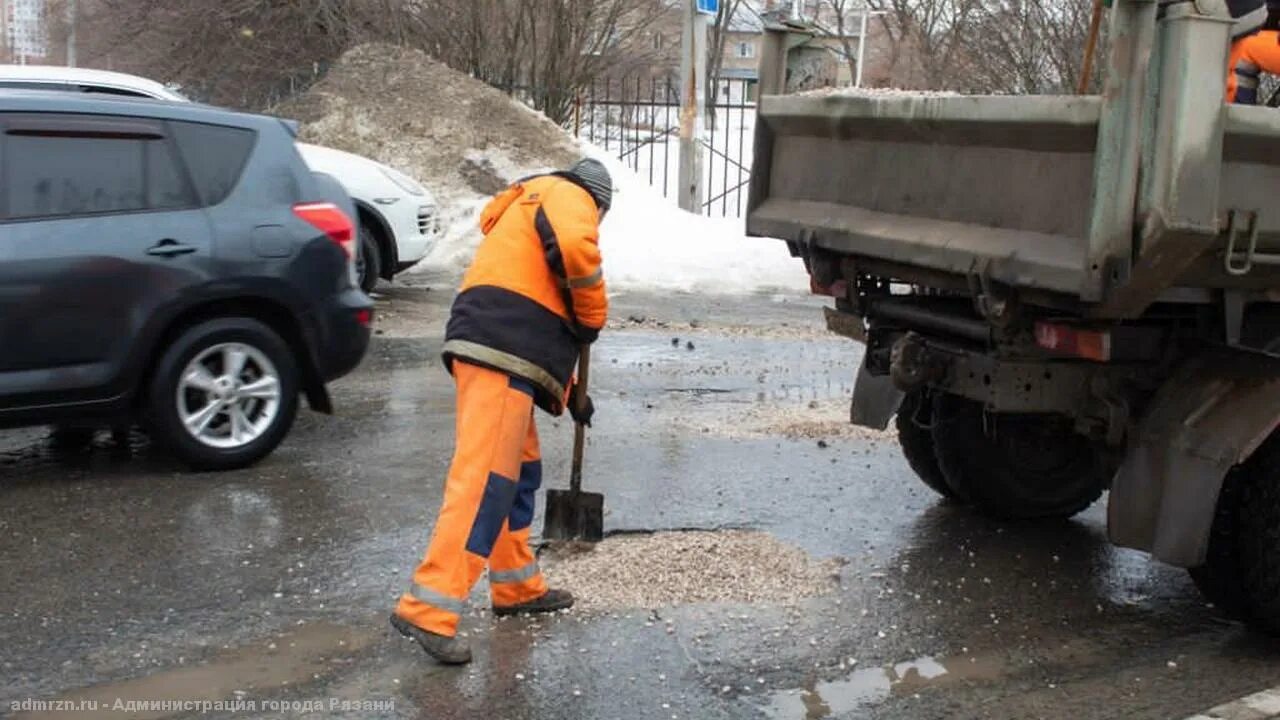
POLYGON ((355 217, 279 119, 0 91, 0 427, 260 460, 369 346, 355 217))

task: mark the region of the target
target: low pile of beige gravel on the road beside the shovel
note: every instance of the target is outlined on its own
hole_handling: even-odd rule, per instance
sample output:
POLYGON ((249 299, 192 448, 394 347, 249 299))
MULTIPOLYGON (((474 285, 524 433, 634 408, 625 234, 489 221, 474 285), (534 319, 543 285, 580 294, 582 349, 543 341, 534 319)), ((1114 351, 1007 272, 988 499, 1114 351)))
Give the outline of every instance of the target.
POLYGON ((840 562, 819 561, 755 530, 689 530, 556 544, 541 555, 548 580, 577 609, 655 609, 695 602, 796 605, 838 587, 840 562))

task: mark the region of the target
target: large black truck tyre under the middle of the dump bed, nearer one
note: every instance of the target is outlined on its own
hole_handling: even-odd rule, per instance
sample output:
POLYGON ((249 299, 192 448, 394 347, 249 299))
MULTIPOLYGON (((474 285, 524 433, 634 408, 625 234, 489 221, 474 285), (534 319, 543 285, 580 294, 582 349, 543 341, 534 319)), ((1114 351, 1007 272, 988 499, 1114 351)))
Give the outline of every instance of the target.
POLYGON ((934 397, 933 443, 956 496, 1006 520, 1070 518, 1110 479, 1102 450, 1066 418, 987 414, 954 395, 934 397))

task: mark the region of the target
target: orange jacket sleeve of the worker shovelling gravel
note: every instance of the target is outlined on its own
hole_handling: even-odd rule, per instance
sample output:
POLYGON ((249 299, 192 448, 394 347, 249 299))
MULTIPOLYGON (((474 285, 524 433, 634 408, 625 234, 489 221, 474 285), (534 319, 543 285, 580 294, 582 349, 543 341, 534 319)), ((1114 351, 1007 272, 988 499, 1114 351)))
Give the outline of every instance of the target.
POLYGON ((598 331, 604 327, 609 300, 604 290, 600 258, 600 218, 591 196, 577 186, 562 186, 549 193, 543 210, 556 231, 564 260, 573 314, 580 325, 598 331))

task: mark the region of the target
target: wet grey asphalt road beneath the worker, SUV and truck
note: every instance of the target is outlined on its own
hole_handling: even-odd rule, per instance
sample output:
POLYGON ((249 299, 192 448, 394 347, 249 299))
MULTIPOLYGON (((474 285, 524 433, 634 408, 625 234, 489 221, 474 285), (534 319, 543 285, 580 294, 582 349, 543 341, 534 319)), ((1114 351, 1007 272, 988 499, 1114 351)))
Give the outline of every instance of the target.
MULTIPOLYGON (((1272 642, 1220 620, 1181 571, 1111 548, 1101 503, 1061 524, 975 518, 918 483, 892 438, 844 429, 860 347, 826 336, 812 300, 776 297, 620 297, 586 482, 609 530, 765 530, 841 559, 831 592, 477 611, 476 661, 436 666, 385 621, 452 437, 449 292, 430 281, 385 291, 381 334, 333 388, 339 415, 301 414, 255 469, 187 474, 141 437, 55 454, 44 430, 0 434, 0 715, 169 698, 253 705, 234 717, 365 701, 347 716, 1155 719, 1280 683, 1272 642)), ((562 484, 570 425, 540 429, 562 484)))

